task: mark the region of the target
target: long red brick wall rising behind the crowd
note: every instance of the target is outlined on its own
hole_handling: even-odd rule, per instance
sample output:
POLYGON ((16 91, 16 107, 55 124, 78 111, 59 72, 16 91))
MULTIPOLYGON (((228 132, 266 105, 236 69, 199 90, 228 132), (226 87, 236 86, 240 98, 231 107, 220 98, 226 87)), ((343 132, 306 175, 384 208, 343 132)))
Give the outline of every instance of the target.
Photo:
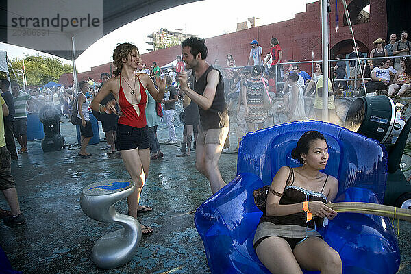
MULTIPOLYGON (((347 1, 348 4, 351 1, 347 1)), ((370 52, 373 49, 373 41, 380 37, 386 38, 387 18, 386 18, 386 3, 385 0, 370 0, 370 22, 358 25, 353 25, 356 40, 360 41, 360 51, 370 52)), ((331 1, 332 12, 329 16, 330 22, 330 47, 332 50, 331 58, 335 58, 338 53, 350 53, 351 46, 334 47, 341 41, 352 41, 349 27, 343 25, 344 8, 342 1, 338 1, 336 10, 336 0, 331 1), (338 32, 336 32, 336 18, 338 13, 338 32)), ((322 45, 321 45, 321 1, 307 4, 307 11, 295 14, 295 18, 279 23, 264 25, 261 27, 253 27, 240 32, 224 34, 206 39, 208 46, 208 62, 214 63, 215 59, 219 59, 220 65, 225 66, 227 54, 231 53, 236 60, 237 66, 247 64, 251 40, 258 40, 262 46, 263 56, 270 51, 271 37, 277 37, 279 45, 282 47, 283 58, 286 62, 288 59, 296 61, 311 60, 312 51, 314 51, 314 59, 321 60, 322 45)), ((351 18, 351 20, 353 20, 351 18)), ((352 44, 352 43, 351 43, 352 44)), ((142 62, 149 67, 151 62, 156 61, 158 65, 164 66, 175 60, 176 56, 181 53, 181 47, 175 46, 168 49, 160 49, 151 53, 142 55, 142 62)), ((300 66, 302 70, 311 73, 310 65, 300 66)), ((114 66, 112 66, 114 71, 114 66)), ((110 72, 110 63, 101 66, 95 66, 92 71, 79 73, 79 81, 86 79, 88 76, 97 80, 101 72, 110 72)), ((59 83, 66 85, 66 79, 72 81, 73 77, 62 75, 59 83)), ((71 82, 69 82, 71 84, 71 82)))

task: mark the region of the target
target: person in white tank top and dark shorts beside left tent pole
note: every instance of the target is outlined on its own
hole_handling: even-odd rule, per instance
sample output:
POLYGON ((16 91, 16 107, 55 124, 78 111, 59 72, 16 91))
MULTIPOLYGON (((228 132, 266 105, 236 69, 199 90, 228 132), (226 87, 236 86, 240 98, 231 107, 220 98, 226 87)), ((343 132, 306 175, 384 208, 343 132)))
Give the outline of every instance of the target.
POLYGON ((77 156, 81 158, 90 158, 92 154, 88 154, 86 152, 86 147, 88 142, 90 142, 93 134, 92 134, 92 127, 90 122, 90 102, 86 98, 86 92, 88 92, 88 82, 82 81, 80 82, 80 92, 77 95, 77 109, 79 113, 77 114, 77 119, 81 120, 78 121, 80 126, 80 135, 81 138, 81 148, 80 152, 77 156))

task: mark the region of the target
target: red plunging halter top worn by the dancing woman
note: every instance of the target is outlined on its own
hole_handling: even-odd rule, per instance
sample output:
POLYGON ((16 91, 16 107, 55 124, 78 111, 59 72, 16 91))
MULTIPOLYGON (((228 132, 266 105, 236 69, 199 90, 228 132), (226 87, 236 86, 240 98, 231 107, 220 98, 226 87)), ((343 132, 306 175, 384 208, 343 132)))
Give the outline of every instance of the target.
POLYGON ((123 87, 121 87, 121 76, 120 76, 119 106, 120 106, 120 110, 123 113, 123 115, 120 116, 118 123, 121 125, 129 125, 130 127, 142 128, 147 125, 147 121, 145 117, 145 104, 147 103, 147 95, 146 95, 144 86, 142 86, 140 82, 140 78, 139 77, 137 78, 138 78, 138 83, 140 84, 140 93, 141 93, 140 103, 138 103, 138 110, 140 110, 140 115, 138 115, 136 110, 134 110, 134 105, 129 103, 129 101, 125 97, 123 87))

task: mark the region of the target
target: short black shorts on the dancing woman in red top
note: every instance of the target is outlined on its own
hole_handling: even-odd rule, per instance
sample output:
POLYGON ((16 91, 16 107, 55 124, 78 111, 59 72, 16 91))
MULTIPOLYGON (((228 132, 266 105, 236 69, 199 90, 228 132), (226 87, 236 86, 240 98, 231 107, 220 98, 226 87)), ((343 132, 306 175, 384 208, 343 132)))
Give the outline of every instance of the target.
POLYGON ((117 124, 116 148, 117 150, 148 149, 150 147, 147 125, 142 128, 117 124))

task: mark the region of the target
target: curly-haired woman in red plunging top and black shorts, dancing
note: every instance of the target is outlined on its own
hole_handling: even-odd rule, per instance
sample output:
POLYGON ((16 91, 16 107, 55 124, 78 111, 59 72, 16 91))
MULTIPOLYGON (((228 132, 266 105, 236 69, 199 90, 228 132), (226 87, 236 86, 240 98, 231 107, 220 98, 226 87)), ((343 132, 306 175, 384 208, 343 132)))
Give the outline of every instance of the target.
MULTIPOLYGON (((120 151, 125 168, 136 182, 136 190, 127 198, 128 214, 134 218, 137 218, 137 212, 152 210, 147 206, 140 206, 140 208, 138 206, 142 186, 145 184, 150 166, 145 90, 147 89, 155 101, 160 103, 164 98, 166 87, 164 79, 158 78, 156 83, 159 90, 157 90, 149 75, 136 73, 140 62, 140 53, 135 45, 131 43, 117 45, 113 53, 116 77, 105 82, 90 105, 93 110, 101 114, 114 112, 120 116, 116 147, 120 151), (101 100, 110 92, 114 95, 115 101, 101 105, 101 100), (119 103, 121 114, 116 112, 116 103, 119 103)), ((141 225, 141 229, 142 234, 153 232, 151 227, 145 225, 141 225)))

